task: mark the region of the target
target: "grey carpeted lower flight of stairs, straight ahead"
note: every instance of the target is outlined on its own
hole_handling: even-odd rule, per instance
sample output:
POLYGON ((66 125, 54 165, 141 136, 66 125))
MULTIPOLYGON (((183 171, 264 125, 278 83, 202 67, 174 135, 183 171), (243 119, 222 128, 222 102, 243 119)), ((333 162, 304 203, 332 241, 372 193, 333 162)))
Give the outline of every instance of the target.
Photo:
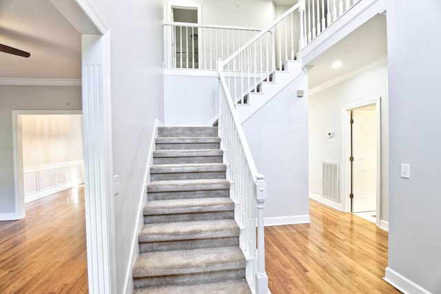
POLYGON ((251 293, 216 127, 158 127, 134 293, 251 293))

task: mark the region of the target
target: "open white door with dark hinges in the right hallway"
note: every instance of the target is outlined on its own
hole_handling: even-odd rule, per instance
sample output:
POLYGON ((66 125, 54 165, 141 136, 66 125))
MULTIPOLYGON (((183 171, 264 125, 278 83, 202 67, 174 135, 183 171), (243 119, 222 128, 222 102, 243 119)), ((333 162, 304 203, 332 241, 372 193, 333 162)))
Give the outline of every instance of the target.
POLYGON ((352 212, 376 211, 377 115, 376 106, 353 109, 352 212))

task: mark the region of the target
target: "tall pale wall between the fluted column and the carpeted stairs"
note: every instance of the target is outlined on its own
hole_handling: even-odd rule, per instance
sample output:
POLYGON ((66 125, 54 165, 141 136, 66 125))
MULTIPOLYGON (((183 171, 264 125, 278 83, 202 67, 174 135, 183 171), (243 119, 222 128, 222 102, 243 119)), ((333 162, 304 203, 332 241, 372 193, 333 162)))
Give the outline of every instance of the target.
MULTIPOLYGON (((139 204, 156 118, 163 120, 163 1, 93 0, 110 28, 116 289, 132 271, 139 204)), ((111 240, 112 242, 112 240, 111 240)), ((129 277, 131 282, 131 275, 129 277)), ((129 284, 130 288, 130 284, 129 284)))

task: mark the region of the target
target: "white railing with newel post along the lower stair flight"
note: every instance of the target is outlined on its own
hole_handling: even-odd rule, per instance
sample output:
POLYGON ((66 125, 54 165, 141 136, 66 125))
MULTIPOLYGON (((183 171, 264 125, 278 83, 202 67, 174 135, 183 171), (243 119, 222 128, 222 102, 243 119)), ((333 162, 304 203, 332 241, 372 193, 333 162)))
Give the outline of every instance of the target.
POLYGON ((223 76, 221 64, 222 61, 219 61, 218 134, 222 138, 227 178, 231 182, 230 197, 236 204, 234 219, 241 230, 240 249, 247 259, 247 282, 250 287, 256 289, 256 294, 266 294, 268 293, 268 277, 265 271, 263 208, 267 198, 267 187, 264 176, 258 174, 254 164, 223 76))

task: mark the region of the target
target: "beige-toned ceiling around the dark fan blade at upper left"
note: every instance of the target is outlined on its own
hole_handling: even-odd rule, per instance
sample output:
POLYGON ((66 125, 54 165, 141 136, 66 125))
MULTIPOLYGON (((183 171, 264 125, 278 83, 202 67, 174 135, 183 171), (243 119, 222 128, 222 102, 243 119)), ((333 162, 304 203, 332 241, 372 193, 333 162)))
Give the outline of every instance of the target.
POLYGON ((0 78, 81 78, 81 34, 48 0, 1 0, 0 78))

